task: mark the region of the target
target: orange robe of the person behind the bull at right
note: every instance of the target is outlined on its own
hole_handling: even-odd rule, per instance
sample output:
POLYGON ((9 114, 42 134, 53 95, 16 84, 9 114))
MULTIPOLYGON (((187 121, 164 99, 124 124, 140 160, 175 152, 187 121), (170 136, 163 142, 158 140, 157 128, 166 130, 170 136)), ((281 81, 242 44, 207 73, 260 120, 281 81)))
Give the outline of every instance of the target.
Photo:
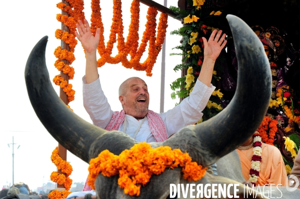
MULTIPOLYGON (((261 145, 261 163, 260 172, 257 184, 259 186, 275 184, 276 186, 282 187, 287 186, 286 171, 283 159, 281 157, 280 151, 271 145, 262 143, 261 145)), ((249 172, 251 169, 251 158, 253 156, 253 147, 251 149, 242 151, 236 149, 242 167, 242 174, 245 180, 249 180, 249 172)))

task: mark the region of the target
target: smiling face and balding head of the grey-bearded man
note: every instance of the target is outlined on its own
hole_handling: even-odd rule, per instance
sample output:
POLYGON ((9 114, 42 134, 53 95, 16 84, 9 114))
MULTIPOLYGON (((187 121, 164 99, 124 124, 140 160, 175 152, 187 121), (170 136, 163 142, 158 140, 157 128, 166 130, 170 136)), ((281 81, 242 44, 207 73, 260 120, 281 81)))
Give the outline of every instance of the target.
POLYGON ((129 79, 125 89, 125 94, 119 96, 125 113, 133 117, 146 116, 149 107, 149 93, 145 81, 139 78, 129 79))

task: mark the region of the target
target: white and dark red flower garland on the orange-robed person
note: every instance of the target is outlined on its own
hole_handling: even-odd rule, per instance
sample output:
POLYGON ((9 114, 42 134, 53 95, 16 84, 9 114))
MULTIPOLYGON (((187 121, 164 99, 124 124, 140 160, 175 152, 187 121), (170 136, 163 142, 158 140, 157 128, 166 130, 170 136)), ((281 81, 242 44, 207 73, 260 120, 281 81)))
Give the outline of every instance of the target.
POLYGON ((251 158, 251 169, 249 172, 249 181, 256 186, 259 178, 260 162, 261 162, 261 137, 256 131, 253 135, 253 156, 251 158))

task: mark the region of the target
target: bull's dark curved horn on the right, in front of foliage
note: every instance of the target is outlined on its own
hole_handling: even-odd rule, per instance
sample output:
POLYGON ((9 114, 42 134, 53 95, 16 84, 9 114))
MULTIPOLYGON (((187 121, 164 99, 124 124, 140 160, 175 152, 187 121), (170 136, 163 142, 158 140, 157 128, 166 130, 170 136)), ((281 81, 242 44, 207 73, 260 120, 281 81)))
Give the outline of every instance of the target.
POLYGON ((223 111, 195 126, 201 147, 216 158, 230 153, 255 132, 271 97, 271 70, 261 41, 237 16, 226 18, 238 60, 237 88, 223 111))

